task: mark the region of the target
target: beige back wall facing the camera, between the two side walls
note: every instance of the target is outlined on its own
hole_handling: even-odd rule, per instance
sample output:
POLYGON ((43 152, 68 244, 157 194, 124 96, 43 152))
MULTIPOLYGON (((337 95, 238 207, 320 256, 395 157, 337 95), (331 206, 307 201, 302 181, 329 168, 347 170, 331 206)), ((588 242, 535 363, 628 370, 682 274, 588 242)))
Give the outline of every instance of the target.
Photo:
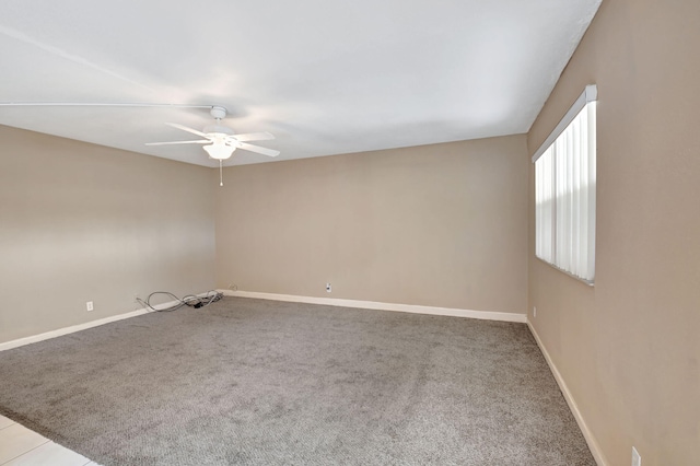
POLYGON ((225 168, 217 283, 524 314, 526 159, 512 136, 225 168))

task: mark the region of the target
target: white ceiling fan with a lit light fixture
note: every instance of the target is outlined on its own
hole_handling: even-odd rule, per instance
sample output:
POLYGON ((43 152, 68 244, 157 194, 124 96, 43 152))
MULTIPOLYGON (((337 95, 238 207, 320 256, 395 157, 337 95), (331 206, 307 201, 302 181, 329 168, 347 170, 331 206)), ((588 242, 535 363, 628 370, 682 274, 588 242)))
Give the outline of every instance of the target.
POLYGON ((176 123, 166 123, 166 125, 172 126, 173 128, 191 132, 192 135, 197 135, 203 139, 194 141, 147 142, 145 145, 206 144, 203 145, 203 149, 209 154, 209 158, 218 160, 220 163, 221 161, 231 158, 233 151, 236 149, 243 149, 268 156, 277 156, 280 154, 280 151, 276 151, 273 149, 248 144, 248 141, 275 139, 275 136, 269 132, 236 135, 231 128, 221 125, 221 119, 226 116, 226 109, 224 107, 213 106, 211 107, 210 113, 211 116, 215 118, 217 123, 205 127, 201 131, 176 123))

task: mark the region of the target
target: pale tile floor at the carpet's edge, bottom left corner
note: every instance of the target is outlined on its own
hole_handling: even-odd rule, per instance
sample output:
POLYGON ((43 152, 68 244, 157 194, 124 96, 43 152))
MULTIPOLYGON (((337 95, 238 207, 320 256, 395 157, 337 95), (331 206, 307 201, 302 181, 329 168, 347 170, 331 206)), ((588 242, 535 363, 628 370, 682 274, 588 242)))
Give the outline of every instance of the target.
POLYGON ((0 416, 0 465, 100 466, 4 416, 0 416))

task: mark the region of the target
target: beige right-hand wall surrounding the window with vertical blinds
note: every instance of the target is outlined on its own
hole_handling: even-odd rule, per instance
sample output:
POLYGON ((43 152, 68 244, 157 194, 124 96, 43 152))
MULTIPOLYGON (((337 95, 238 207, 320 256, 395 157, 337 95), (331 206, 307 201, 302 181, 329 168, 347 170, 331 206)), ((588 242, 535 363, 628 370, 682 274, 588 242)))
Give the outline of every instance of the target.
POLYGON ((529 318, 610 465, 700 464, 699 45, 697 0, 604 1, 528 136, 597 83, 595 288, 534 258, 530 170, 529 318))

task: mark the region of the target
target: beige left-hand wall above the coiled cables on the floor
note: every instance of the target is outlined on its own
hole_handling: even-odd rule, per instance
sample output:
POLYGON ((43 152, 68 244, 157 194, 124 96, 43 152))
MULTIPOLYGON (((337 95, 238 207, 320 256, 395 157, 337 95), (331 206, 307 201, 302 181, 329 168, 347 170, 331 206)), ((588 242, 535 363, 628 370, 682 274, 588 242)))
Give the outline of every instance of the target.
POLYGON ((0 342, 213 288, 209 168, 3 126, 0 141, 0 342))

